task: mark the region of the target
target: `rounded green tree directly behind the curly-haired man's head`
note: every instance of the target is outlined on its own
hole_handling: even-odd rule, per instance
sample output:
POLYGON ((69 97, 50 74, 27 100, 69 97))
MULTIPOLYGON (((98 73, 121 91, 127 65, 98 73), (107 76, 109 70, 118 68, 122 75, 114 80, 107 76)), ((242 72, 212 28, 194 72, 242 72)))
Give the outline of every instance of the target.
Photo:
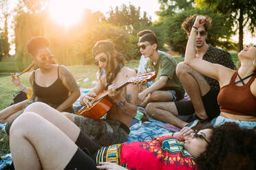
POLYGON ((167 37, 165 41, 173 51, 184 54, 188 38, 181 25, 186 17, 193 14, 207 15, 212 19, 213 26, 209 30, 206 40, 207 43, 225 49, 233 48, 233 43, 230 42, 231 34, 233 33, 231 32, 231 25, 226 23, 226 19, 222 14, 214 14, 211 10, 205 8, 191 8, 190 10, 186 9, 182 12, 172 14, 171 16, 162 16, 159 22, 164 25, 163 32, 167 37))

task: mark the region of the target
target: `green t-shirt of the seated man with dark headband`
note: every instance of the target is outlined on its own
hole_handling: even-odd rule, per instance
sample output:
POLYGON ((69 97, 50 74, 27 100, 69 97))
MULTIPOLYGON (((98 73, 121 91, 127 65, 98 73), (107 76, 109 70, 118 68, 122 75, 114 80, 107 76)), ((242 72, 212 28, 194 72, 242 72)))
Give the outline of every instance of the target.
POLYGON ((158 73, 153 82, 158 81, 161 76, 168 77, 167 84, 159 90, 179 90, 184 94, 184 88, 175 73, 176 66, 176 60, 173 57, 167 53, 160 53, 158 62, 153 65, 153 60, 148 60, 145 69, 147 72, 156 71, 158 73))

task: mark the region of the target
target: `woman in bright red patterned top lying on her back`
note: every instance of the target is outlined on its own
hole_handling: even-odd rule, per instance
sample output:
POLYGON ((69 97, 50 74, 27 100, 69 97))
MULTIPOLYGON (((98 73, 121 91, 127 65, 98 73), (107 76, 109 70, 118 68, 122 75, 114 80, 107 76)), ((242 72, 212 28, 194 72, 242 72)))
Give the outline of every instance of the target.
POLYGON ((239 162, 255 166, 255 143, 256 131, 241 129, 235 123, 197 133, 184 127, 150 142, 101 148, 66 117, 47 121, 34 112, 24 112, 10 129, 15 169, 223 169, 239 162), (239 162, 228 162, 233 156, 239 162), (100 162, 122 167, 109 163, 96 166, 100 162))

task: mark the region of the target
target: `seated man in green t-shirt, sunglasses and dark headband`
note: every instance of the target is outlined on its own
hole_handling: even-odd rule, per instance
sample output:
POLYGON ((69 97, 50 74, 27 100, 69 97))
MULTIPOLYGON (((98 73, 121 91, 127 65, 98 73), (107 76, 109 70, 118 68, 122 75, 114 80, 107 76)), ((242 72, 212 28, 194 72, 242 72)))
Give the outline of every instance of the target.
POLYGON ((182 99, 184 88, 175 73, 177 64, 169 54, 157 51, 158 40, 156 36, 145 34, 140 37, 138 49, 145 58, 149 58, 145 66, 146 71, 158 73, 156 79, 153 80, 153 85, 139 93, 138 105, 146 107, 149 103, 182 99))

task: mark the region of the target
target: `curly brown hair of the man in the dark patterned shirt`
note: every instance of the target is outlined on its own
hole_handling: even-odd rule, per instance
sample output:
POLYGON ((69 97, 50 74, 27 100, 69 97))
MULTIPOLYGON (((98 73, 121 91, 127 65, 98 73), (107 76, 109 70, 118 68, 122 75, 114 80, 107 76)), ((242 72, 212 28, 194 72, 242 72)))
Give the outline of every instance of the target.
MULTIPOLYGON (((196 16, 198 15, 192 15, 186 18, 186 20, 182 23, 182 27, 186 32, 191 32, 191 29, 195 23, 196 16)), ((206 16, 206 23, 204 23, 204 29, 206 32, 209 31, 211 28, 211 18, 209 16, 206 16)))

